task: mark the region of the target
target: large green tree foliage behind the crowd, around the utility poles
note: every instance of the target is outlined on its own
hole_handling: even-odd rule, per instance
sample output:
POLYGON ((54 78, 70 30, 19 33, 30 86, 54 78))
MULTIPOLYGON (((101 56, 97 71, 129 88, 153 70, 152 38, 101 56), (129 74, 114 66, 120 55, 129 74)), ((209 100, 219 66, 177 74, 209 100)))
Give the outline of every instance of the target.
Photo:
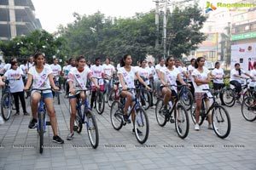
MULTIPOLYGON (((206 39, 200 32, 206 17, 196 5, 176 8, 173 17, 171 15, 167 32, 175 37, 167 37, 167 48, 170 54, 180 57, 195 50, 196 45, 206 39)), ((73 16, 74 22, 67 27, 60 26, 58 34, 67 39, 74 55, 83 54, 90 60, 109 56, 114 61, 119 61, 124 54, 131 54, 136 60, 144 59, 147 54, 163 56, 163 45, 155 47, 158 35, 154 11, 126 19, 106 17, 100 12, 88 16, 74 13, 73 16)))

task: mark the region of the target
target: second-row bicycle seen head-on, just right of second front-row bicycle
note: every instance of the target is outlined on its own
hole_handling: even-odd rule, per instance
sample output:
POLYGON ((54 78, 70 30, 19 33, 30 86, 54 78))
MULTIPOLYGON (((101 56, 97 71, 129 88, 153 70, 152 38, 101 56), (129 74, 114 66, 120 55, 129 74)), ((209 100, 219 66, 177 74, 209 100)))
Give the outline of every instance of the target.
MULTIPOLYGON (((99 80, 103 79, 103 78, 98 78, 98 77, 94 77, 94 78, 97 79, 98 84, 99 84, 99 80)), ((93 90, 96 90, 96 89, 93 89, 93 90)), ((102 115, 104 108, 105 108, 105 99, 104 99, 104 94, 103 94, 102 90, 100 90, 100 89, 96 90, 96 96, 94 98, 94 102, 95 102, 97 113, 102 115)))

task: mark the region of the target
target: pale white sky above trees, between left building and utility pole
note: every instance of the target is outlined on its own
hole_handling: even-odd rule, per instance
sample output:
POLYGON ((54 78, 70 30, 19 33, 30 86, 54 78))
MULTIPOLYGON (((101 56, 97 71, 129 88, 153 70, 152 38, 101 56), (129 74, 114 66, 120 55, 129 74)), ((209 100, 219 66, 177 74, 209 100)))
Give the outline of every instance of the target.
POLYGON ((100 11, 105 16, 124 18, 155 8, 153 0, 32 0, 32 3, 43 29, 50 33, 57 31, 59 25, 72 23, 74 12, 90 15, 100 11))

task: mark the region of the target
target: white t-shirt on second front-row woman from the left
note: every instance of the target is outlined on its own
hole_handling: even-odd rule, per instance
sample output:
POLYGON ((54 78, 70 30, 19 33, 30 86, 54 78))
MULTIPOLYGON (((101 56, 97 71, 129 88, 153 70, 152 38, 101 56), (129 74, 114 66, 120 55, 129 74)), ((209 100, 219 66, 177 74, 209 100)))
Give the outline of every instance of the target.
POLYGON ((82 81, 84 85, 86 86, 87 78, 92 76, 92 72, 90 71, 89 67, 84 67, 84 71, 79 72, 76 67, 73 67, 68 72, 68 79, 67 82, 73 82, 73 88, 74 90, 82 90, 78 78, 76 78, 76 75, 79 75, 79 81, 82 81))

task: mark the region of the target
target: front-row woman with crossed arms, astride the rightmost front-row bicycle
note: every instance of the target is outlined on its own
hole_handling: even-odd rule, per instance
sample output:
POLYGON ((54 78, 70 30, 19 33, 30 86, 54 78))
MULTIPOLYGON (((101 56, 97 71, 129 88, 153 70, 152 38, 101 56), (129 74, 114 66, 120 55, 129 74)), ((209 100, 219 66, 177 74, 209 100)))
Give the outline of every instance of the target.
MULTIPOLYGON (((195 88, 195 130, 200 130, 199 127, 199 112, 201 110, 202 99, 207 91, 203 89, 209 89, 209 83, 211 82, 210 71, 205 67, 206 59, 203 57, 199 57, 195 60, 195 71, 192 72, 192 82, 195 88)), ((210 102, 206 100, 207 108, 209 108, 210 102)), ((208 128, 212 129, 212 115, 208 115, 208 128)))

